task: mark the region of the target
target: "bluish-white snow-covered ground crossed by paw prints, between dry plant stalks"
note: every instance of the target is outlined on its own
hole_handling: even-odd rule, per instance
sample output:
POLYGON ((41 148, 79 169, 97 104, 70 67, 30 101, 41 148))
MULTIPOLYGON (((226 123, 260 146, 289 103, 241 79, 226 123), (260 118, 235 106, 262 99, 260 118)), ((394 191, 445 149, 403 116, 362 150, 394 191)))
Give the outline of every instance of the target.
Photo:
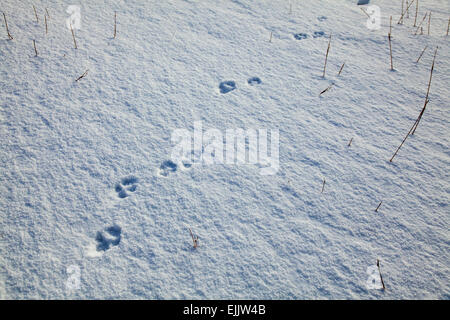
POLYGON ((449 299, 450 4, 356 2, 1 0, 0 298, 449 299), (174 166, 196 121, 278 129, 278 172, 174 166))

